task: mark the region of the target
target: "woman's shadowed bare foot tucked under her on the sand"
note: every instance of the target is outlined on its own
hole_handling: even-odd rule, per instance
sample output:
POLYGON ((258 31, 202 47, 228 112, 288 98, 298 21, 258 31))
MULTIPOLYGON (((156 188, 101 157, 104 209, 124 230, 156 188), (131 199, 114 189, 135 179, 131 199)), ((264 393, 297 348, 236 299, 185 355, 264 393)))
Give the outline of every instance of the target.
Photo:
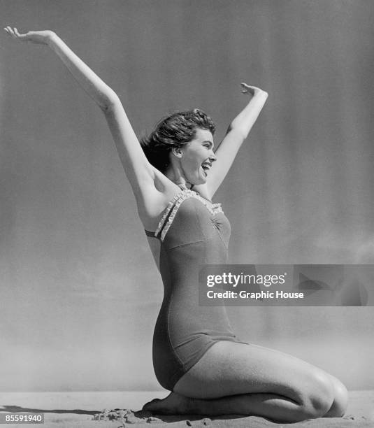
POLYGON ((187 415, 194 413, 192 404, 194 399, 171 392, 164 399, 153 399, 143 406, 143 411, 150 411, 157 415, 187 415))

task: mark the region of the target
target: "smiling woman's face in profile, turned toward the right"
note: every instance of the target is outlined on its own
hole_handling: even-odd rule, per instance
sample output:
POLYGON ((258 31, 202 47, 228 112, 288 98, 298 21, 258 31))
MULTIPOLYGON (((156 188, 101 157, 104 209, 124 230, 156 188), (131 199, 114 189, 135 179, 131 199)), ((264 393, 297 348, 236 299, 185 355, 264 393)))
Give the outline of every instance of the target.
POLYGON ((216 157, 213 152, 213 135, 207 129, 196 129, 195 138, 182 148, 180 167, 189 183, 206 183, 210 167, 216 157))

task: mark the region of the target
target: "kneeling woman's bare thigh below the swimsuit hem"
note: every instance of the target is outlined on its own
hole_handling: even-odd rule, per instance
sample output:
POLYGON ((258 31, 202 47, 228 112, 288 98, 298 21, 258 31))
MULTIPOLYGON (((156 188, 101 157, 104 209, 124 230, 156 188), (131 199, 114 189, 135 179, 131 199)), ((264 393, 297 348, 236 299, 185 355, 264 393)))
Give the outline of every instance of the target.
POLYGON ((173 389, 200 399, 272 393, 296 402, 326 396, 331 390, 330 376, 312 364, 262 346, 229 341, 215 343, 173 389))

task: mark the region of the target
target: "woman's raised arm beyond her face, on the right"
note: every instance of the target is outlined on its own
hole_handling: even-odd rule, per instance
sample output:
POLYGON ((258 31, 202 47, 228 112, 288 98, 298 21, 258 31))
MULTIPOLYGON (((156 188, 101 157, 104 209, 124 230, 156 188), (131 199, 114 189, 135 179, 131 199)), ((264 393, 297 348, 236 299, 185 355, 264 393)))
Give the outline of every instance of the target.
POLYGON ((267 92, 259 89, 259 87, 250 86, 246 83, 241 83, 241 86, 241 92, 249 94, 251 99, 247 106, 231 122, 226 136, 215 152, 217 161, 214 162, 210 169, 206 182, 208 193, 211 197, 229 172, 240 146, 250 133, 268 98, 267 92))

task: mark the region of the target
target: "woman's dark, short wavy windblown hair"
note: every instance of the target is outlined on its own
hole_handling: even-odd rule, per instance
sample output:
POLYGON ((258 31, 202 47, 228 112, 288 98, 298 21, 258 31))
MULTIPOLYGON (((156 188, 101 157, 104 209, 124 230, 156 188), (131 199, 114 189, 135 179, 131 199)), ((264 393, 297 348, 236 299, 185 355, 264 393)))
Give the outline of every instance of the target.
POLYGON ((164 172, 170 162, 172 148, 181 148, 196 136, 196 129, 215 133, 215 124, 203 110, 172 113, 161 119, 148 137, 141 138, 141 146, 150 164, 164 172))

